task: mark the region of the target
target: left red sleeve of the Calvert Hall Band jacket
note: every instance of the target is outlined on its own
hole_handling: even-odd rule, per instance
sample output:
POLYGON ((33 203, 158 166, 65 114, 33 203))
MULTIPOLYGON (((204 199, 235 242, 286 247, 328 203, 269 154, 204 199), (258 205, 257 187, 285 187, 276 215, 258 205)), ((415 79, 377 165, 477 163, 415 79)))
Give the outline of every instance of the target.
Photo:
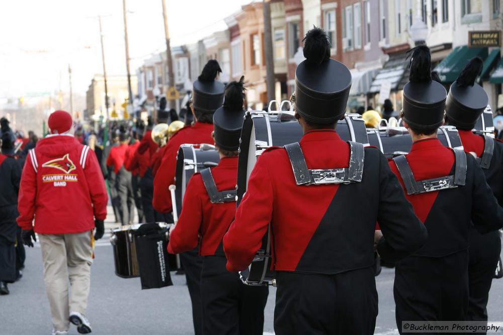
POLYGON ((35 200, 37 197, 37 173, 34 170, 30 155, 26 155, 25 166, 21 175, 21 183, 18 196, 17 218, 18 226, 23 230, 33 229, 33 217, 35 216, 35 200))

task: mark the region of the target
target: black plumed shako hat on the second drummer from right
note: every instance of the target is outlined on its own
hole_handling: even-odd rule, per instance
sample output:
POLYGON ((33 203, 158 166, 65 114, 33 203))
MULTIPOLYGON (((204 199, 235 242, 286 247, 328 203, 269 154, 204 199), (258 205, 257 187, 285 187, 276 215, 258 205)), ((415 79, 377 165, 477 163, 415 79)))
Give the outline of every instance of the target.
POLYGON ((403 87, 402 119, 420 130, 431 130, 444 122, 444 86, 432 80, 432 59, 426 45, 417 46, 410 58, 409 81, 403 87))

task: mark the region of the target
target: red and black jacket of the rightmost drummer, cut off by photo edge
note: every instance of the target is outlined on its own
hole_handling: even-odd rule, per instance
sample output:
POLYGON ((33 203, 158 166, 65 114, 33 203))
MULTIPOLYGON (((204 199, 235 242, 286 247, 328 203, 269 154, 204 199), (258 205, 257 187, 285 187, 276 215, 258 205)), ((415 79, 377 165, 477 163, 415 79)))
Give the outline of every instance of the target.
MULTIPOLYGON (((484 151, 485 138, 480 135, 473 134, 472 131, 460 130, 459 137, 465 152, 475 153, 477 157, 481 157, 484 151)), ((503 204, 503 142, 494 139, 494 150, 492 152, 491 164, 488 169, 482 169, 485 174, 485 180, 492 189, 494 196, 503 204)))

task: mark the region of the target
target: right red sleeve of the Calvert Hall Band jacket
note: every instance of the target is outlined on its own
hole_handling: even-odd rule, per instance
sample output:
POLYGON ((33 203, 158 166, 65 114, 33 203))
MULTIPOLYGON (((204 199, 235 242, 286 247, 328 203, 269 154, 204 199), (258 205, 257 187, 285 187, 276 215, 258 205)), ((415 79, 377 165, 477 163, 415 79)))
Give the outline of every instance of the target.
POLYGON ((94 216, 98 220, 105 220, 107 217, 107 188, 105 180, 101 173, 100 164, 96 154, 92 150, 88 150, 86 161, 83 163, 84 175, 88 183, 89 192, 91 193, 91 202, 93 203, 94 216))

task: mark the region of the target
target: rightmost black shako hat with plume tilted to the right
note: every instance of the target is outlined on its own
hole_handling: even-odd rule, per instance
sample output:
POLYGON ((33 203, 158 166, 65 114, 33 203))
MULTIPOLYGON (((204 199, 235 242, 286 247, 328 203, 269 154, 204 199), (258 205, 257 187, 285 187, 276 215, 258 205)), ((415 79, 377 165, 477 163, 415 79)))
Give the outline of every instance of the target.
POLYGON ((449 124, 458 129, 472 130, 489 102, 485 90, 475 83, 482 66, 482 59, 472 58, 449 89, 445 113, 449 124))

